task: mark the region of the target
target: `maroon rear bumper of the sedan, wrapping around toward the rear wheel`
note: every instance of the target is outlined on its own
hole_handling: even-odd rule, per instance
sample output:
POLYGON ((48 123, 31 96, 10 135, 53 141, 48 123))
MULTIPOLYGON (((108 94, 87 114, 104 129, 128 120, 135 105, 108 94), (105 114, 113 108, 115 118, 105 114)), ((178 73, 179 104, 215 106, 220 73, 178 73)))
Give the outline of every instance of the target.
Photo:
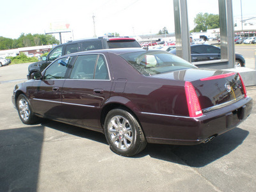
POLYGON ((140 113, 148 143, 196 145, 237 127, 252 112, 252 98, 246 97, 199 118, 140 113))

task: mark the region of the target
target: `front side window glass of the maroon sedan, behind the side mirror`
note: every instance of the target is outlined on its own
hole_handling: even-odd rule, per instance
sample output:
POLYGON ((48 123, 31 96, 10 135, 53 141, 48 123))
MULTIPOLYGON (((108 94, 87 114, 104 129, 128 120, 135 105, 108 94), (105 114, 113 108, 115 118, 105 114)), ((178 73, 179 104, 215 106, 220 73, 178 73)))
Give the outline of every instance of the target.
POLYGON ((44 73, 44 79, 64 79, 71 58, 62 58, 54 61, 44 73))

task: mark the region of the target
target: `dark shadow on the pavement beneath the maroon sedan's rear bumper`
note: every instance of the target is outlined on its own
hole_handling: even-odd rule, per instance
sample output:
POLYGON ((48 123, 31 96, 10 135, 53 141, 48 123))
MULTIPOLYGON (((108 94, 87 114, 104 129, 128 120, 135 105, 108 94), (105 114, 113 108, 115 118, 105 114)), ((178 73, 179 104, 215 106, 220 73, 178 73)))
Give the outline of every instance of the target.
POLYGON ((138 156, 148 154, 152 158, 199 168, 232 152, 243 143, 248 134, 248 131, 236 128, 216 137, 209 143, 199 145, 148 144, 147 148, 138 156))

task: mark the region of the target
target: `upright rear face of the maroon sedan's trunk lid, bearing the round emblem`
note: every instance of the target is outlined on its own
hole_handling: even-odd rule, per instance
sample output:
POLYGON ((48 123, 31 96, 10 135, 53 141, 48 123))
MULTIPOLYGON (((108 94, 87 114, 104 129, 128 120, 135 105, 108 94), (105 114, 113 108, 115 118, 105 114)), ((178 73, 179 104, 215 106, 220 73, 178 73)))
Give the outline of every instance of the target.
POLYGON ((219 70, 213 76, 200 78, 191 83, 195 87, 203 112, 236 102, 246 95, 243 80, 236 72, 219 70))

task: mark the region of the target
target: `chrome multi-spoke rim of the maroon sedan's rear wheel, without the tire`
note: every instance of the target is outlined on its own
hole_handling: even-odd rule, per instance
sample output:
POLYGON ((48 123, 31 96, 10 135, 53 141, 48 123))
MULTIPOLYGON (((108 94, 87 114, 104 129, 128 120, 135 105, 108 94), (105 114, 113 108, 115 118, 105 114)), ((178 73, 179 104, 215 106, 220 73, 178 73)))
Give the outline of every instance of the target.
POLYGON ((121 150, 132 145, 133 131, 129 120, 123 116, 113 116, 108 124, 108 134, 111 142, 121 150))

